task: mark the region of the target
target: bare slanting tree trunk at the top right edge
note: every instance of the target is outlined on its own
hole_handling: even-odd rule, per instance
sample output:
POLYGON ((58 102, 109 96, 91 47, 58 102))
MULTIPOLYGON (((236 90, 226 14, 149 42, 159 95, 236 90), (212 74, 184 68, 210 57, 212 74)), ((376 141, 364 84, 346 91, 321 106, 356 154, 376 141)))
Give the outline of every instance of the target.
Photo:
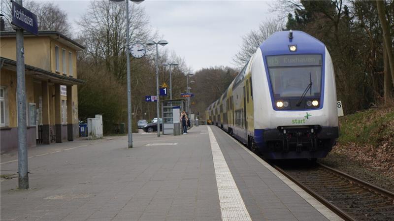
POLYGON ((392 47, 392 43, 391 43, 390 30, 389 30, 389 27, 387 26, 385 5, 383 4, 382 0, 376 0, 376 5, 377 5, 377 9, 378 9, 378 16, 379 16, 380 24, 382 26, 383 39, 384 39, 384 42, 386 45, 386 52, 387 52, 387 56, 388 56, 388 60, 389 60, 391 78, 392 78, 392 82, 394 85, 393 47, 392 47))

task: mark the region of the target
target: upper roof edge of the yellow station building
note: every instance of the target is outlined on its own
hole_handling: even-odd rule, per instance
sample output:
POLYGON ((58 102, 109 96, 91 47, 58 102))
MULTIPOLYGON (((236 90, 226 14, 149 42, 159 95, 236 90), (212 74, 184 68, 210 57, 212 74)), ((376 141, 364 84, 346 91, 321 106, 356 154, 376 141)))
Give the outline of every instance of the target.
MULTIPOLYGON (((0 37, 15 37, 16 32, 0 32, 0 37)), ((30 32, 23 32, 24 36, 36 36, 30 32)), ((38 37, 42 36, 49 36, 59 39, 60 42, 65 43, 66 45, 73 46, 76 50, 85 49, 85 47, 76 41, 72 40, 71 38, 67 37, 66 35, 57 32, 57 31, 38 31, 38 37)))

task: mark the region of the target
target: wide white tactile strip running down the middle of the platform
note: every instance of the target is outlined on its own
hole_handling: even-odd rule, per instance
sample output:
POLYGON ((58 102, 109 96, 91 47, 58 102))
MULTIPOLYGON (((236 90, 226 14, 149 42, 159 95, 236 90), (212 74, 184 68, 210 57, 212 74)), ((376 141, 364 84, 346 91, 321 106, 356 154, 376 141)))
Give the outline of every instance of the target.
POLYGON ((252 221, 215 135, 208 127, 222 221, 252 221))

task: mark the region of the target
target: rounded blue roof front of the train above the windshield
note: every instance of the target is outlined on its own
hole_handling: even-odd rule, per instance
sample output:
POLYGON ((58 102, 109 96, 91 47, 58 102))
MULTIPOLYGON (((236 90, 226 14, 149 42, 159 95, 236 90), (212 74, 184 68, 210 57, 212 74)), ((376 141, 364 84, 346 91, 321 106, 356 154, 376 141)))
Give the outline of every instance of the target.
POLYGON ((326 46, 323 42, 305 32, 292 32, 293 38, 289 37, 290 31, 275 32, 269 36, 260 45, 263 55, 324 54, 326 46), (296 52, 290 52, 291 45, 296 45, 296 52))

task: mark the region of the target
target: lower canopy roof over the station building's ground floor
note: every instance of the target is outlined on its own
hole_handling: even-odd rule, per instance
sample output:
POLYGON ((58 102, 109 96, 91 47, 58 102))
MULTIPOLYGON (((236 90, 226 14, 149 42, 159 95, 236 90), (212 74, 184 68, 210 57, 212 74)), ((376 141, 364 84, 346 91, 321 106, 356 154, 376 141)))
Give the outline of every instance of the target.
MULTIPOLYGON (((4 65, 8 66, 7 69, 16 70, 16 61, 0 57, 0 64, 1 68, 4 65)), ((41 78, 41 79, 49 79, 50 82, 53 83, 60 83, 64 85, 81 85, 84 84, 85 81, 69 76, 64 76, 60 74, 55 74, 50 71, 34 67, 28 64, 25 64, 25 70, 27 71, 26 74, 31 74, 34 77, 41 78)))

